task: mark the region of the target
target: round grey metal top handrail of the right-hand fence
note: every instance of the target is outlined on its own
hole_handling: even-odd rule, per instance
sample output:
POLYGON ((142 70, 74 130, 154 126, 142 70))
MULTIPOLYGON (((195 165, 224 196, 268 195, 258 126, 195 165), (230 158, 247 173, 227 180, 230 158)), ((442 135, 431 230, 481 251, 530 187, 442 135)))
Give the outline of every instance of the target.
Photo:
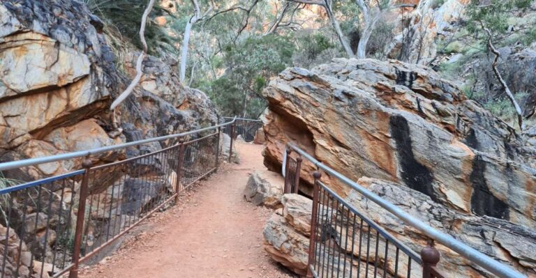
MULTIPOLYGON (((412 226, 418 231, 429 236, 429 238, 432 238, 433 240, 440 242, 442 245, 445 245, 449 249, 452 249, 453 251, 457 252, 464 258, 467 258, 473 263, 476 263, 477 265, 484 268, 485 270, 488 270, 494 275, 497 275, 498 277, 501 277, 501 278, 526 278, 525 275, 521 274, 520 272, 517 272, 516 270, 511 268, 509 265, 500 263, 494 260, 493 258, 490 258, 489 256, 486 256, 485 254, 482 254, 482 252, 479 252, 476 249, 466 245, 465 243, 459 240, 456 240, 455 238, 452 237, 452 235, 448 235, 446 233, 442 233, 436 229, 433 229, 431 226, 429 226, 428 224, 425 224, 417 217, 413 217, 412 215, 409 215, 401 208, 393 205, 392 203, 389 203, 388 201, 385 201, 385 199, 382 199, 380 196, 374 194, 373 192, 369 191, 365 187, 362 187, 361 185, 350 180, 349 178, 343 176, 343 174, 338 173, 338 171, 335 171, 334 169, 326 166, 325 164, 322 164, 322 162, 316 160, 315 157, 309 155, 304 150, 301 150, 301 148, 299 148, 295 144, 288 143, 287 146, 288 148, 292 148, 292 150, 295 150, 297 153, 299 153, 302 157, 305 157, 310 162, 313 162, 313 164, 315 164, 315 167, 318 167, 318 169, 322 169, 323 171, 325 171, 326 173, 329 173, 330 175, 334 176, 338 180, 341 180, 343 183, 345 183, 345 185, 352 187, 353 190, 356 190, 357 192, 361 193, 367 199, 378 204, 378 206, 381 206, 382 208, 389 211, 389 213, 392 213, 396 217, 399 217, 399 219, 405 222, 405 224, 412 226)), ((284 153, 286 154, 286 151, 284 153)), ((284 157, 285 157, 284 160, 286 160, 287 158, 285 154, 284 154, 284 157)), ((286 161, 283 161, 283 164, 286 164, 286 161)))

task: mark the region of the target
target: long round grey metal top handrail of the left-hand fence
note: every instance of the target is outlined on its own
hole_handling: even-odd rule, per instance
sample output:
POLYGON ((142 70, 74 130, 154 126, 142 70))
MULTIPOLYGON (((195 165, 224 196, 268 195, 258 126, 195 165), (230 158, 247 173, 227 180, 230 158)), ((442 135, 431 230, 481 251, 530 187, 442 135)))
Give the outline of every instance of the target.
MULTIPOLYGON (((228 118, 228 117, 224 117, 224 118, 228 118)), ((232 118, 232 121, 229 121, 227 123, 221 123, 219 125, 213 125, 213 126, 208 127, 208 128, 201 128, 199 130, 192 130, 192 131, 188 131, 188 132, 165 135, 165 136, 161 136, 161 137, 154 137, 154 138, 143 139, 143 140, 139 140, 139 141, 132 141, 132 142, 124 143, 124 144, 105 146, 105 147, 102 147, 102 148, 94 148, 94 149, 91 149, 91 150, 80 150, 80 151, 72 152, 72 153, 62 153, 62 154, 59 154, 59 155, 50 155, 50 156, 45 156, 45 157, 29 158, 27 160, 17 160, 17 161, 11 161, 11 162, 4 162, 4 163, 0 163, 0 171, 10 170, 10 169, 17 169, 17 168, 20 168, 20 167, 28 167, 28 166, 32 166, 32 165, 38 165, 38 164, 44 164, 44 163, 50 163, 50 162, 58 162, 58 161, 61 161, 61 160, 70 160, 70 159, 77 158, 77 157, 87 157, 88 155, 97 155, 99 153, 105 153, 105 152, 108 152, 110 150, 119 150, 121 148, 126 148, 126 147, 131 147, 131 146, 139 146, 139 145, 148 144, 148 143, 152 143, 152 142, 156 142, 156 141, 174 139, 174 138, 178 138, 178 137, 185 137, 185 136, 188 136, 188 135, 191 135, 191 134, 196 134, 196 133, 199 133, 199 132, 204 132, 204 131, 207 131, 207 130, 214 130, 216 128, 221 128, 221 127, 224 127, 224 126, 227 126, 227 125, 232 125, 235 121, 237 121, 237 117, 232 118)))

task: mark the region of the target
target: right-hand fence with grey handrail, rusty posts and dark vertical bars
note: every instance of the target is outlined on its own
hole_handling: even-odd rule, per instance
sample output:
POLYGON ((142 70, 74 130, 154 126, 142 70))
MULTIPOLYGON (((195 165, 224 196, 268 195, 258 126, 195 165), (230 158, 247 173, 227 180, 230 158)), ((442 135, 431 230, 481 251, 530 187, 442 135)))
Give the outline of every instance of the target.
POLYGON ((435 248, 434 241, 498 277, 525 277, 508 265, 495 261, 452 236, 408 215, 401 208, 327 167, 294 144, 288 144, 283 153, 282 173, 285 176, 285 194, 296 193, 299 190, 302 157, 317 168, 313 173, 308 278, 446 277, 436 268, 440 263, 440 252, 435 248), (430 238, 428 244, 419 250, 420 254, 417 254, 325 185, 321 180, 320 171, 327 173, 329 180, 337 180, 348 185, 365 199, 385 209, 385 213, 394 215, 412 229, 428 236, 430 238))

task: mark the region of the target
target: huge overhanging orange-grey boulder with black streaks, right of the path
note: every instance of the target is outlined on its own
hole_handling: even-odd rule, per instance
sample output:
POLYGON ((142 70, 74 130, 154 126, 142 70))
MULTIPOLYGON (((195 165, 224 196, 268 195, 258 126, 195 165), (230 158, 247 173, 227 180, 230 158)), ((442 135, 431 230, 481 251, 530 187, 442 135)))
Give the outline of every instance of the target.
MULTIPOLYGON (((264 95, 265 164, 271 169, 281 169, 285 143, 292 141, 352 180, 403 185, 472 221, 536 227, 535 148, 428 68, 334 59, 313 70, 283 71, 264 95)), ((311 183, 313 165, 303 165, 301 177, 311 183)), ((349 196, 329 176, 325 182, 349 196)))

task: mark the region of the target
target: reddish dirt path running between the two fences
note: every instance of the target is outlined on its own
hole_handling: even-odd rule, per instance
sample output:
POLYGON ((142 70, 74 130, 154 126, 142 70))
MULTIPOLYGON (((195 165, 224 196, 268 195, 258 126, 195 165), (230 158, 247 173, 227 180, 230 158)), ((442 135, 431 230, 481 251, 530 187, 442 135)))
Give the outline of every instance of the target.
POLYGON ((263 169, 262 146, 239 144, 227 165, 140 226, 144 232, 80 277, 294 277, 262 247, 271 210, 244 201, 249 173, 263 169), (184 200, 184 201, 183 201, 184 200))

